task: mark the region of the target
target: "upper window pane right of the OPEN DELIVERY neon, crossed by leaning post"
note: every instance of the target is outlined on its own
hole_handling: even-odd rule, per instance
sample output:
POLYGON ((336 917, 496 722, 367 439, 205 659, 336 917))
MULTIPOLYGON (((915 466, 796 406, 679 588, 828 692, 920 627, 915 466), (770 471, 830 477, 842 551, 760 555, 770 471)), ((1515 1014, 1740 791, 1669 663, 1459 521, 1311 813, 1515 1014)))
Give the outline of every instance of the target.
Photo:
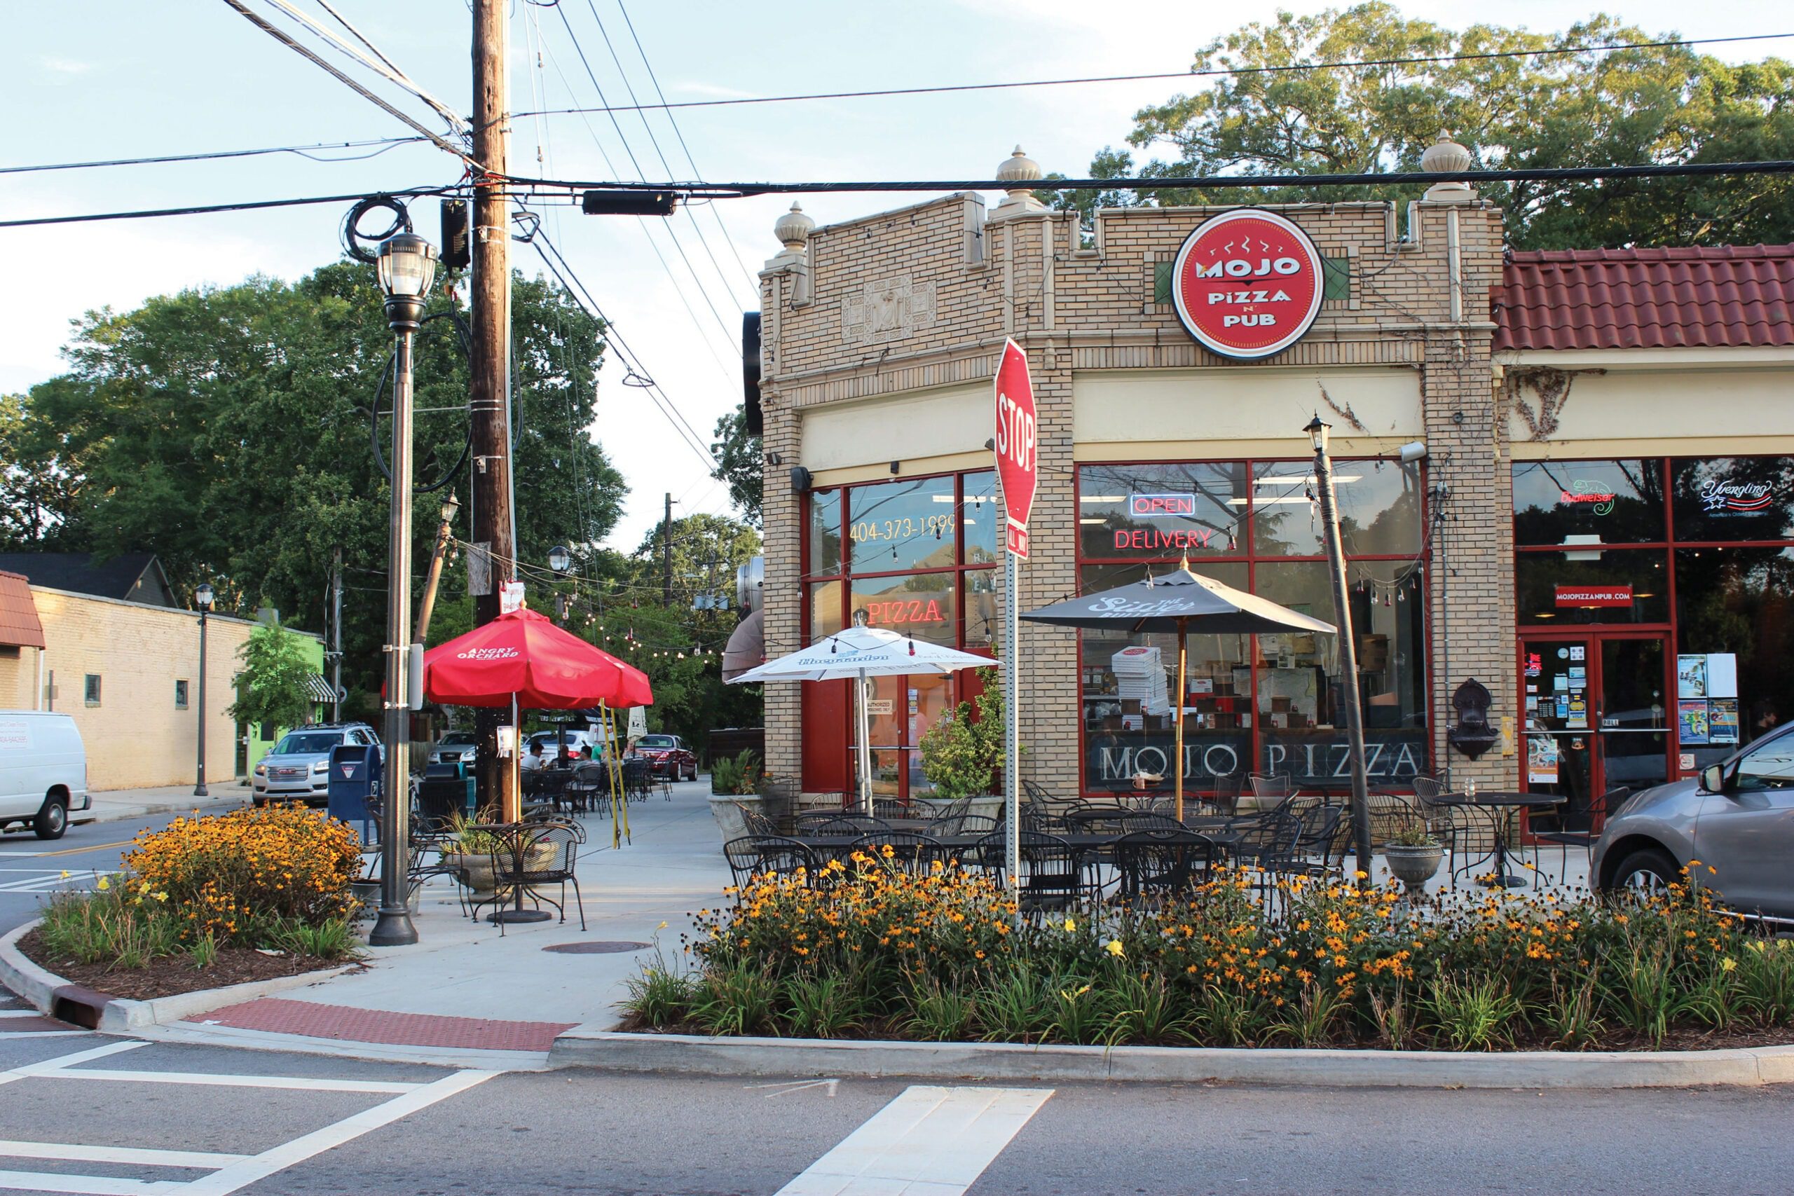
MULTIPOLYGON (((1320 507, 1313 464, 1261 461, 1252 470, 1252 550, 1258 556, 1320 556, 1320 507)), ((1337 461, 1340 538, 1347 556, 1414 556, 1421 550, 1419 466, 1396 461, 1337 461)))

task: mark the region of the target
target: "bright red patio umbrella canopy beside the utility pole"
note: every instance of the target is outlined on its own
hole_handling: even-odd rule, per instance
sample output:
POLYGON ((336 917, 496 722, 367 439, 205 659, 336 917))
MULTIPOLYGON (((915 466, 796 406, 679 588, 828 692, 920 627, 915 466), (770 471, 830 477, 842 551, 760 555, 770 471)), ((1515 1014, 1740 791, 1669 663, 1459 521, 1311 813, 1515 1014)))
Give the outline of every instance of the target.
POLYGON ((518 608, 423 653, 423 694, 452 706, 649 706, 648 674, 518 608))

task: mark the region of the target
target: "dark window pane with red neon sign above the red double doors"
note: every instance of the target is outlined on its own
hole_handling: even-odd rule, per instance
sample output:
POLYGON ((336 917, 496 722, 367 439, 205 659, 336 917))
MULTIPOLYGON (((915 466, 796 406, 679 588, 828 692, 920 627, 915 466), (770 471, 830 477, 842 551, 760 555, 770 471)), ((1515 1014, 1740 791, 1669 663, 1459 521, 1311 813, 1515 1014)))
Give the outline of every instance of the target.
POLYGON ((1525 461, 1514 466, 1514 543, 1661 543, 1663 461, 1525 461))

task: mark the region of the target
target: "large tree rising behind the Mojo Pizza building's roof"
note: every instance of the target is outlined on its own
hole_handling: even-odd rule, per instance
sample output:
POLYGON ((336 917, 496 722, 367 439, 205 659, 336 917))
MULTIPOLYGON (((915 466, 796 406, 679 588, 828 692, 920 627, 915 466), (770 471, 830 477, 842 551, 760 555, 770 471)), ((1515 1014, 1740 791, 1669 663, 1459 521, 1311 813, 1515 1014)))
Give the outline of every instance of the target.
MULTIPOLYGON (((1609 16, 1561 34, 1498 25, 1462 32, 1408 20, 1381 2, 1313 16, 1279 13, 1211 41, 1191 70, 1295 68, 1222 75, 1213 86, 1136 113, 1128 143, 1168 147, 1136 170, 1103 149, 1093 178, 1191 174, 1362 174, 1417 170, 1441 131, 1473 167, 1582 167, 1749 161, 1794 156, 1794 66, 1729 66, 1688 47, 1602 50, 1663 41, 1609 16), (1394 59, 1568 50, 1532 57, 1394 59), (1378 61, 1301 70, 1306 63, 1378 61)), ((1699 176, 1484 183, 1527 249, 1753 244, 1794 238, 1787 176, 1699 176)), ((1100 195, 1042 192, 1089 213, 1096 204, 1406 201, 1412 185, 1159 188, 1100 195)))

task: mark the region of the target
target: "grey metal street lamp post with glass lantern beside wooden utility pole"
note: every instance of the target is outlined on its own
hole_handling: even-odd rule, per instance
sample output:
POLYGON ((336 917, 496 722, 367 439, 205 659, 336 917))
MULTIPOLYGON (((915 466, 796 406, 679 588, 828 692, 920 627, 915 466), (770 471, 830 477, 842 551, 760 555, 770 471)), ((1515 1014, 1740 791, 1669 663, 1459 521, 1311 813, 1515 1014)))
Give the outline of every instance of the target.
POLYGON ((386 561, 386 800, 380 803, 380 914, 371 947, 418 941, 411 923, 411 337, 436 278, 436 246, 416 233, 380 242, 377 260, 386 321, 393 328, 393 507, 386 561))

